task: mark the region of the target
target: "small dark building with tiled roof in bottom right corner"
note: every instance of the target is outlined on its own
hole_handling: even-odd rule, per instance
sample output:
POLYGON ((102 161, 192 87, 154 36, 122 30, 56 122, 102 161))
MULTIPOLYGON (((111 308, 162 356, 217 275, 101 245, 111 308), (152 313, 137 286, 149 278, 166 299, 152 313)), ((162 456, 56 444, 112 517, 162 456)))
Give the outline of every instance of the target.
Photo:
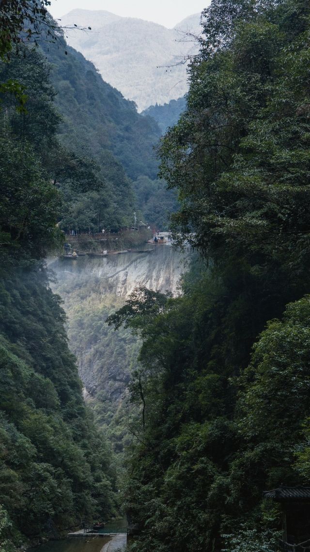
POLYGON ((264 492, 279 502, 282 512, 282 548, 310 552, 310 487, 285 487, 264 492))

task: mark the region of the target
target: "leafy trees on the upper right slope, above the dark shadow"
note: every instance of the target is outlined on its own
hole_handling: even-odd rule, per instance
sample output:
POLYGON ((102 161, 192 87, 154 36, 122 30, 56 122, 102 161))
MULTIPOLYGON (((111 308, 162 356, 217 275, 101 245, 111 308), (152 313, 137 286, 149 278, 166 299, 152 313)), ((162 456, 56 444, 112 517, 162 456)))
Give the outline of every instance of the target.
POLYGON ((229 49, 202 50, 188 110, 162 143, 162 176, 180 186, 177 226, 196 231, 204 252, 308 270, 309 50, 303 29, 285 36, 284 8, 278 19, 271 8, 238 20, 229 49))

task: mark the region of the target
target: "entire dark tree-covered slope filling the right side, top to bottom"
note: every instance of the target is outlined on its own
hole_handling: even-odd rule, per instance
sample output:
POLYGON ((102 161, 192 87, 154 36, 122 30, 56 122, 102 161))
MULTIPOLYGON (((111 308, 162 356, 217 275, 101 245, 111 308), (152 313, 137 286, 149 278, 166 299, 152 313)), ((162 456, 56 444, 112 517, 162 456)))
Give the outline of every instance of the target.
MULTIPOLYGON (((183 296, 141 293, 110 317, 143 340, 130 388, 132 550, 270 551, 279 502, 309 486, 307 0, 203 12, 188 106, 161 144, 175 235, 200 253, 183 296)), ((310 538, 301 506, 287 533, 310 538)))

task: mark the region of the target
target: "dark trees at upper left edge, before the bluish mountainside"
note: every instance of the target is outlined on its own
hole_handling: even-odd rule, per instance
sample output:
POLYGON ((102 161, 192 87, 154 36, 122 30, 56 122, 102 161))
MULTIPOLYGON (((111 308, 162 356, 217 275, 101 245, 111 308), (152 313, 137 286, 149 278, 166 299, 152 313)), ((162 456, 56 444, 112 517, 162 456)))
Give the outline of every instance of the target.
POLYGON ((57 139, 61 118, 53 105, 49 73, 34 47, 21 47, 0 67, 0 78, 19 78, 27 98, 23 113, 16 110, 13 95, 2 100, 2 246, 17 248, 19 256, 31 248, 36 258, 61 243, 56 228, 62 207, 59 188, 79 194, 102 185, 96 164, 69 152, 57 139))

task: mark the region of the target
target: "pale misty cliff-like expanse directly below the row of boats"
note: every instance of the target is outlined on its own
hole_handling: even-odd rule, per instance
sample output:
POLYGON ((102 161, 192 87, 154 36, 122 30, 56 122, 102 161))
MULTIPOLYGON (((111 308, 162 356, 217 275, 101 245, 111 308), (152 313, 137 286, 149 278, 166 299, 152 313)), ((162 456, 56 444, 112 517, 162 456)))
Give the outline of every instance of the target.
POLYGON ((49 263, 58 280, 53 290, 64 300, 70 348, 78 358, 85 396, 104 392, 100 400, 107 401, 112 411, 122 402, 130 369, 137 365, 139 342, 129 330, 115 332, 107 326, 106 317, 138 286, 178 294, 180 277, 191 255, 166 245, 150 248, 151 253, 49 263))

